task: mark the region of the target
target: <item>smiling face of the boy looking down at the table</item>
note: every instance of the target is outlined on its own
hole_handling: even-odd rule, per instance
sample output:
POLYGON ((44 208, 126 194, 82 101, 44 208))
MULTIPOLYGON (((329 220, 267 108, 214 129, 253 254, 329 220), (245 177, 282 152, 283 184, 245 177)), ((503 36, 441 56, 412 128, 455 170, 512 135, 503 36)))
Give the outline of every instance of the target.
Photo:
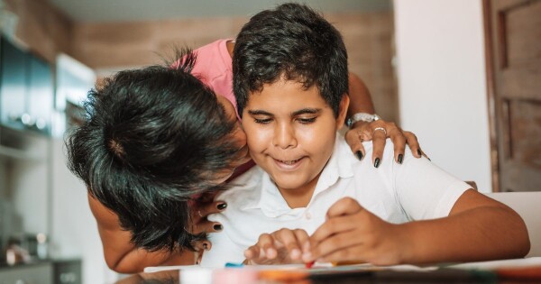
POLYGON ((336 118, 317 87, 284 79, 250 93, 243 128, 252 159, 280 191, 311 190, 334 150, 348 104, 344 96, 336 118))

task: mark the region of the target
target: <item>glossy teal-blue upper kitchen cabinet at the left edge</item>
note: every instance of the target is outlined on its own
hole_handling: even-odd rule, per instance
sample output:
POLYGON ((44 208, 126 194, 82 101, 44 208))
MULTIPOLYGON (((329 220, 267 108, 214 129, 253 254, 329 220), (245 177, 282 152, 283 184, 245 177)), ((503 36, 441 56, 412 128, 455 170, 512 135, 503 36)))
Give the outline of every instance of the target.
POLYGON ((54 107, 50 64, 4 38, 0 56, 0 124, 49 134, 54 107))

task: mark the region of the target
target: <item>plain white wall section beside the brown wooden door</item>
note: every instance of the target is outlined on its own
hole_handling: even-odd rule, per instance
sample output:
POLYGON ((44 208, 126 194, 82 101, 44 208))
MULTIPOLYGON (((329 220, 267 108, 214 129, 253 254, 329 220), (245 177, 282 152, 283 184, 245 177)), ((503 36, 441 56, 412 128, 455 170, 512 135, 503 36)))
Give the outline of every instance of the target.
POLYGON ((459 179, 491 191, 480 0, 395 0, 402 128, 459 179))

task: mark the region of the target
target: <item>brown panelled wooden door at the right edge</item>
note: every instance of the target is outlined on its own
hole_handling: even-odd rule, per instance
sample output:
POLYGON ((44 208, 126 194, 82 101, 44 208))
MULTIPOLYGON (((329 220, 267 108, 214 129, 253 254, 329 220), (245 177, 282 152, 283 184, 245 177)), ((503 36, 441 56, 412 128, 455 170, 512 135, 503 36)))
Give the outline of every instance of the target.
POLYGON ((541 0, 484 0, 494 191, 541 190, 541 0))

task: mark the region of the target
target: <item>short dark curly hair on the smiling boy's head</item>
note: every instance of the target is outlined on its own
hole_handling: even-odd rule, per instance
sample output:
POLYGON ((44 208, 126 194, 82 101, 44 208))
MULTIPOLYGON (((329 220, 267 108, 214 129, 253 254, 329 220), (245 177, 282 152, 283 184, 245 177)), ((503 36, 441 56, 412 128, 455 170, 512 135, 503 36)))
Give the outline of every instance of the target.
POLYGON ((233 52, 234 95, 243 115, 250 92, 285 78, 316 85, 335 116, 348 90, 342 35, 307 5, 284 4, 252 16, 233 52))

